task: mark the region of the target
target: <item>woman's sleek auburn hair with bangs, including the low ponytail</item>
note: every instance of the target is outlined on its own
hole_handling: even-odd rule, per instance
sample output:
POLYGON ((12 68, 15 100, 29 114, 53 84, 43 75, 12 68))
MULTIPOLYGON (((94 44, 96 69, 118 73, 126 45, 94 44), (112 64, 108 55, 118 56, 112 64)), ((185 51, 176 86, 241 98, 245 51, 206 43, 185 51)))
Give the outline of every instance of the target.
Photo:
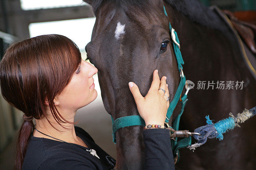
POLYGON ((6 49, 0 63, 1 92, 8 103, 24 113, 16 145, 15 169, 22 168, 34 130, 32 119, 47 119, 45 101, 56 122, 74 123, 60 115, 53 99, 68 85, 80 63, 81 53, 76 44, 58 34, 14 42, 6 49))

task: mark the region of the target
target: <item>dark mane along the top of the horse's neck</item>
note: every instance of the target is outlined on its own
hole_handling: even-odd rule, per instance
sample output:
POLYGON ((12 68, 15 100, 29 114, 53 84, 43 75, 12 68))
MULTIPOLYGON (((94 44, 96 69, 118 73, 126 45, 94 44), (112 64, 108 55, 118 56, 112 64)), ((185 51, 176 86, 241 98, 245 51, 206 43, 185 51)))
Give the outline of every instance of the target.
POLYGON ((165 0, 165 2, 195 23, 221 31, 225 29, 220 17, 198 0, 165 0))

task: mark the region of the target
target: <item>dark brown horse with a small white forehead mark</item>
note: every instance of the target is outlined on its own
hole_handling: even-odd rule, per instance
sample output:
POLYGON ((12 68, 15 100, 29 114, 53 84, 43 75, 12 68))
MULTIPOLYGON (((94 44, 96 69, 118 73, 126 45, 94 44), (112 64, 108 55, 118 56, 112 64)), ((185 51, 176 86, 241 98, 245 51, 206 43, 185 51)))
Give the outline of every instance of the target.
MULTIPOLYGON (((190 0, 84 0, 92 5, 96 22, 86 46, 88 59, 98 69, 104 106, 113 119, 139 115, 128 82, 135 82, 145 96, 153 70, 167 77, 170 101, 180 73, 170 39, 169 21, 178 33, 185 64, 184 74, 198 81, 244 81, 243 89, 205 89, 188 93, 180 129, 193 131, 205 125, 205 115, 218 121, 256 104, 256 81, 247 69, 224 21, 197 1, 190 0), (163 5, 168 17, 164 15, 163 5)), ((185 89, 183 90, 183 93, 185 89)), ((180 111, 178 102, 172 119, 180 111)), ((172 122, 172 120, 170 121, 172 122)), ((256 167, 256 119, 224 134, 224 140, 208 139, 195 152, 180 150, 179 169, 252 169, 256 167)), ((141 169, 144 163, 142 126, 116 132, 118 169, 141 169)), ((171 147, 171 146, 170 146, 171 147)))

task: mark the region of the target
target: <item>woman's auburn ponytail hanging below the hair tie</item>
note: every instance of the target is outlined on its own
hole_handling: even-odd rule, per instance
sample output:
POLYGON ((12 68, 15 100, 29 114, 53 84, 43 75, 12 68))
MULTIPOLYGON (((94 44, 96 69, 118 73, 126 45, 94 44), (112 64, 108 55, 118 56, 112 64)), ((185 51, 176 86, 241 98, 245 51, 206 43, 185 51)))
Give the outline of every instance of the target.
MULTIPOLYGON (((24 115, 23 115, 23 119, 24 119, 24 115)), ((16 161, 15 161, 15 167, 14 167, 15 170, 20 170, 22 168, 23 160, 28 148, 29 138, 33 128, 34 128, 34 124, 32 120, 30 121, 24 120, 20 127, 17 144, 16 144, 17 153, 16 153, 16 161)))

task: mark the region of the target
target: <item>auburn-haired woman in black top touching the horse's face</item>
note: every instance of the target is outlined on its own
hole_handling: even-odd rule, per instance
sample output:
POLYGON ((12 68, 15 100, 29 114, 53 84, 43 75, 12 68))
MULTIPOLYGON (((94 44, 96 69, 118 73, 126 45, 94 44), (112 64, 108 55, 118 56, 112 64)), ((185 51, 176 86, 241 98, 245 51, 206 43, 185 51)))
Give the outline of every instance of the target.
MULTIPOLYGON (((6 50, 0 63, 2 95, 24 113, 15 169, 114 168, 115 159, 87 132, 74 126, 76 111, 97 97, 92 78, 97 71, 81 60, 76 44, 62 35, 37 36, 13 43, 6 50)), ((145 97, 135 83, 129 83, 146 125, 162 126, 144 128, 146 169, 174 169, 169 130, 163 129, 169 107, 165 80, 162 77, 160 81, 155 70, 145 97)))

